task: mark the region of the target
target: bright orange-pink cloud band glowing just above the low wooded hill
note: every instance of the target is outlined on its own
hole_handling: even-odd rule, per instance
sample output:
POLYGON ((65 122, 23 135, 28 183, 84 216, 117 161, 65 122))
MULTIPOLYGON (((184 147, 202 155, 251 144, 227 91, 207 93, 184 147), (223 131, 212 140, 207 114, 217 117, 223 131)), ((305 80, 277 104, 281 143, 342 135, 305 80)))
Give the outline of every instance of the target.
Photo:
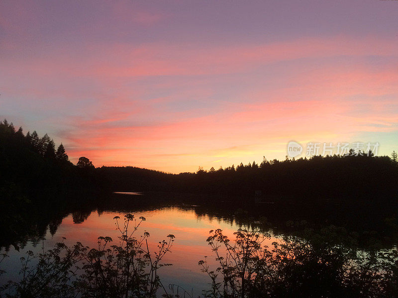
POLYGON ((103 162, 104 158, 110 158, 104 164, 115 164, 115 160, 119 160, 119 165, 134 161, 140 166, 153 167, 153 157, 156 157, 157 164, 162 158, 167 164, 160 162, 159 169, 174 170, 171 169, 173 162, 180 161, 181 164, 174 166, 181 169, 187 160, 203 159, 205 156, 212 159, 262 156, 260 154, 268 154, 266 152, 272 144, 287 142, 292 138, 298 141, 334 142, 338 138, 340 141, 345 137, 350 138, 361 131, 397 129, 393 126, 398 123, 397 117, 386 118, 383 114, 371 118, 369 115, 345 115, 350 109, 343 102, 315 100, 249 104, 242 105, 240 111, 235 113, 209 115, 159 126, 94 128, 87 131, 90 136, 88 139, 70 141, 79 144, 80 148, 94 146, 83 152, 100 163, 100 160, 103 162), (390 128, 378 127, 380 123, 387 123, 390 128), (233 146, 228 148, 228 145, 233 146), (120 149, 106 149, 109 146, 120 149))

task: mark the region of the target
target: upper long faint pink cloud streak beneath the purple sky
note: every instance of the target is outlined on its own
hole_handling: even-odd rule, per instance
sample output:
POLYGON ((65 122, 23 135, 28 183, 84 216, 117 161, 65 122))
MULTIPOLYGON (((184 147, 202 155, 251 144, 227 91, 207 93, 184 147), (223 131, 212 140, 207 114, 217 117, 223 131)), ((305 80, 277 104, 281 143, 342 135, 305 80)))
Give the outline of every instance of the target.
MULTIPOLYGON (((159 75, 203 75, 231 74, 247 72, 253 68, 280 61, 293 61, 303 58, 328 58, 340 56, 397 56, 395 40, 376 37, 352 39, 337 36, 335 38, 298 39, 295 41, 267 43, 250 46, 229 45, 187 45, 168 43, 149 43, 142 45, 92 44, 79 52, 87 52, 84 60, 76 63, 75 48, 62 52, 49 53, 43 58, 34 58, 24 64, 27 72, 39 72, 49 75, 55 69, 64 71, 63 75, 94 76, 97 78, 120 78, 159 75), (377 47, 370 47, 377 44, 377 47), (107 62, 105 62, 107 61, 107 62)), ((24 61, 8 60, 11 65, 24 61)), ((14 72, 17 71, 13 68, 14 72)))

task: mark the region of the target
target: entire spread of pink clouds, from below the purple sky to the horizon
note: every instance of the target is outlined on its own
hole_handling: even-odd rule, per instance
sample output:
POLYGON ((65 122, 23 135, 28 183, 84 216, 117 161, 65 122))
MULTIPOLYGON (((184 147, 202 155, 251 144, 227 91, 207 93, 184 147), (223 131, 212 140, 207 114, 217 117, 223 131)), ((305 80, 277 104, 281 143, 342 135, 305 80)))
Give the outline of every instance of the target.
POLYGON ((193 171, 214 160, 280 158, 293 138, 333 142, 397 129, 397 104, 383 97, 398 94, 397 65, 387 63, 397 56, 395 40, 73 46, 7 59, 5 90, 29 96, 37 110, 81 104, 79 113, 65 112, 68 133, 59 137, 74 160, 86 155, 96 166, 193 171), (284 75, 274 78, 281 62, 284 75), (186 102, 205 108, 181 108, 186 102))

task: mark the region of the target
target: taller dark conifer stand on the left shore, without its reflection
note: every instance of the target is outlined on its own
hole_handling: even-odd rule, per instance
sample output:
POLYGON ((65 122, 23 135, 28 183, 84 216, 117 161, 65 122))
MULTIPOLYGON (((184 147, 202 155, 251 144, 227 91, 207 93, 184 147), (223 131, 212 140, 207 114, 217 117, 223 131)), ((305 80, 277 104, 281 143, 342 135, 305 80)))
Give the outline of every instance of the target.
POLYGON ((36 131, 24 134, 7 120, 0 122, 0 166, 0 186, 17 188, 26 195, 87 186, 89 174, 94 174, 88 158, 81 157, 75 166, 62 143, 56 147, 47 134, 39 137, 36 131))

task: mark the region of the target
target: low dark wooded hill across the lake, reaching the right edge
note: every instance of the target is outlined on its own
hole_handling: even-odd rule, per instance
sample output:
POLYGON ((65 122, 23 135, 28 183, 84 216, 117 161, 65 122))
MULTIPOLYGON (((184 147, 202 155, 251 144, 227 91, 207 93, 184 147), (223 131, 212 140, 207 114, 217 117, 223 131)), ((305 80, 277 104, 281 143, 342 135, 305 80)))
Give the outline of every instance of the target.
MULTIPOLYGON (((393 155, 394 156, 394 155, 393 155)), ((390 200, 398 194, 398 163, 389 156, 368 154, 273 159, 196 173, 170 174, 137 167, 101 167, 110 188, 125 191, 178 191, 216 195, 222 199, 390 200)))

